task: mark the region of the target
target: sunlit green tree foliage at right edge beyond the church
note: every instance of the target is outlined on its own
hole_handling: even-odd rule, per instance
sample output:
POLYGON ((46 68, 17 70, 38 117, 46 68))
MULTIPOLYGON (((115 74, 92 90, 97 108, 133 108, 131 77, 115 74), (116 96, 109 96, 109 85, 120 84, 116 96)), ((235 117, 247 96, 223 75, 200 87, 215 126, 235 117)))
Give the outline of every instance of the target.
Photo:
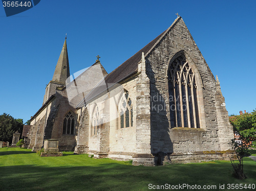
POLYGON ((234 132, 240 135, 240 138, 249 143, 256 140, 256 111, 251 113, 244 113, 229 118, 234 132))

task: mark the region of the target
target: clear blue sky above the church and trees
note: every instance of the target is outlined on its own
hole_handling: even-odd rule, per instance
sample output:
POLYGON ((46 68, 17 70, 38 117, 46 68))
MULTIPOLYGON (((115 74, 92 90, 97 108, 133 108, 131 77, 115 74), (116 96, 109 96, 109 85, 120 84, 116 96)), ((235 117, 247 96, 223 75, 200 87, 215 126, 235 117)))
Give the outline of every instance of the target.
POLYGON ((45 0, 6 17, 0 8, 0 114, 30 119, 68 34, 71 74, 96 56, 110 73, 166 30, 179 13, 212 73, 229 114, 256 108, 256 1, 45 0))

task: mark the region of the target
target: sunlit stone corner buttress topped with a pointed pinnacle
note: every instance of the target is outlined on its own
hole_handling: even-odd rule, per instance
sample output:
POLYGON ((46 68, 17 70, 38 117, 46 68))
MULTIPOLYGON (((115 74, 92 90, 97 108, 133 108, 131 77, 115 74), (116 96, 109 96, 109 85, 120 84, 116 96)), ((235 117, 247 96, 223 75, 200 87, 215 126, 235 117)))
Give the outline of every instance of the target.
POLYGON ((141 74, 137 78, 136 82, 136 154, 133 155, 133 164, 150 165, 154 163, 154 158, 152 158, 151 155, 151 82, 146 74, 147 65, 144 53, 142 53, 142 59, 139 66, 141 74))

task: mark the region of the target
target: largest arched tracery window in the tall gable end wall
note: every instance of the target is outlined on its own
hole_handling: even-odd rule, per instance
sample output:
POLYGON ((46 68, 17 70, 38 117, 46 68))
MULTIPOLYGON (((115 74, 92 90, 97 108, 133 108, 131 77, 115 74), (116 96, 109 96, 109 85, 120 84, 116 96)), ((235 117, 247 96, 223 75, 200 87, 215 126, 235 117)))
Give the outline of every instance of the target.
POLYGON ((185 57, 177 57, 168 69, 171 127, 200 128, 197 80, 185 57))

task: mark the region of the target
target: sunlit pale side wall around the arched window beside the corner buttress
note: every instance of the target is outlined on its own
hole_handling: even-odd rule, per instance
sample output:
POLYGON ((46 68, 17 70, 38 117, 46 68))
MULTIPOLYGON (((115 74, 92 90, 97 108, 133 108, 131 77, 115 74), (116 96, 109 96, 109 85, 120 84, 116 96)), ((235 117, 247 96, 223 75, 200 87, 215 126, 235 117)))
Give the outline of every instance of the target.
POLYGON ((133 127, 120 128, 120 105, 124 91, 116 94, 112 90, 110 93, 116 94, 115 99, 110 99, 110 153, 109 158, 131 160, 136 153, 136 82, 137 78, 132 78, 122 84, 124 91, 129 92, 129 98, 133 107, 133 127), (118 108, 117 108, 118 106, 118 108), (114 109, 117 108, 118 110, 114 109))

